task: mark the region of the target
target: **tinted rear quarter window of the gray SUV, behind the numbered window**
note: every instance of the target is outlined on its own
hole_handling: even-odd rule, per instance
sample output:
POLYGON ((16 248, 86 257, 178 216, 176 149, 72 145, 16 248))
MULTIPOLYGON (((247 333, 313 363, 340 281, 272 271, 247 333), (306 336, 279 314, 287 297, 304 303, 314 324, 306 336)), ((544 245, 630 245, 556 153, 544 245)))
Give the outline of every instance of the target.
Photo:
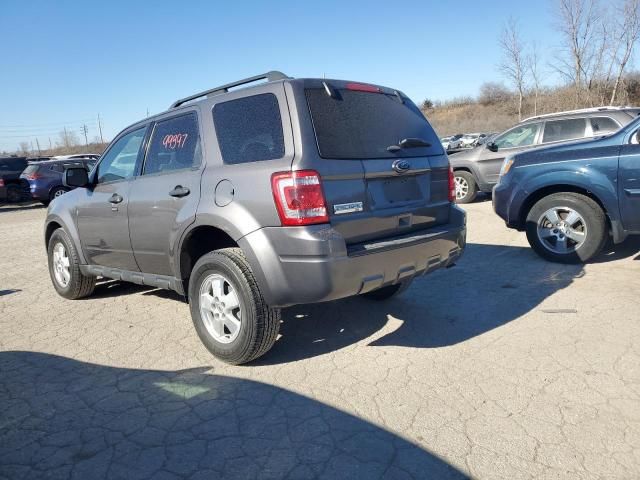
POLYGON ((284 156, 282 118, 278 99, 272 93, 217 104, 213 107, 213 123, 224 163, 284 156))

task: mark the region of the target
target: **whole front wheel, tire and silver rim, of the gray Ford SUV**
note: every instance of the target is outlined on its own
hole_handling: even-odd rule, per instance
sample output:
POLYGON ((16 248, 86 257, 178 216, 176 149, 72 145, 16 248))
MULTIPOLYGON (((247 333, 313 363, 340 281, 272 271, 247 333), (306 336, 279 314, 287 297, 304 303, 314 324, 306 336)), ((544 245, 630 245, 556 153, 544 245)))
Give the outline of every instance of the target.
POLYGON ((78 252, 67 233, 59 228, 49 240, 49 275, 58 294, 69 300, 88 297, 96 287, 96 277, 80 271, 78 252))

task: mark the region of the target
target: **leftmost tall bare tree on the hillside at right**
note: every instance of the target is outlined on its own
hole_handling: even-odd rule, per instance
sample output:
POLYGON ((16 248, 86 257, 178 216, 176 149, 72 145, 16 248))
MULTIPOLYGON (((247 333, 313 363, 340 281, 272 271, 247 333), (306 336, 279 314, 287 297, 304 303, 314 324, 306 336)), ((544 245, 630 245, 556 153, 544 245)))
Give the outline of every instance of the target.
POLYGON ((505 25, 500 35, 499 44, 502 49, 502 62, 499 65, 499 69, 513 84, 518 93, 518 119, 522 120, 522 102, 524 100, 528 60, 524 52, 524 43, 518 32, 518 23, 515 19, 510 18, 505 25))

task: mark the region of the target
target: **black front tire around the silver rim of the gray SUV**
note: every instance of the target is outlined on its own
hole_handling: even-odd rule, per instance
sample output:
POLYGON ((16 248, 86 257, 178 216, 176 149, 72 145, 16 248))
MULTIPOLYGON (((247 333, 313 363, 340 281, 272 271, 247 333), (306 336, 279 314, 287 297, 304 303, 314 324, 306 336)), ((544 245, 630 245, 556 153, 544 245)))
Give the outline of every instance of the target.
POLYGON ((80 259, 78 258, 78 252, 73 245, 73 242, 62 228, 57 229, 51 235, 49 245, 47 245, 47 256, 49 258, 49 275, 51 276, 51 282, 58 294, 69 300, 77 300, 79 298, 88 297, 93 293, 96 287, 96 277, 83 275, 80 271, 80 259), (54 249, 56 245, 61 243, 67 253, 69 259, 69 274, 70 279, 67 285, 62 285, 56 274, 54 273, 54 249))

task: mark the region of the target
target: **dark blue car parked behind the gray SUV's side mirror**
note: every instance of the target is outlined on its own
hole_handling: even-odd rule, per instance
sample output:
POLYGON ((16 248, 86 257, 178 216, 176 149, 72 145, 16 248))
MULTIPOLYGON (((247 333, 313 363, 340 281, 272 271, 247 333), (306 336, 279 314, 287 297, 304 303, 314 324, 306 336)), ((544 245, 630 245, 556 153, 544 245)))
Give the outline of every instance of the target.
POLYGON ((91 170, 96 160, 48 160, 30 163, 20 178, 26 183, 31 198, 49 205, 53 199, 67 193, 70 188, 63 185, 63 174, 66 168, 82 167, 91 170))

